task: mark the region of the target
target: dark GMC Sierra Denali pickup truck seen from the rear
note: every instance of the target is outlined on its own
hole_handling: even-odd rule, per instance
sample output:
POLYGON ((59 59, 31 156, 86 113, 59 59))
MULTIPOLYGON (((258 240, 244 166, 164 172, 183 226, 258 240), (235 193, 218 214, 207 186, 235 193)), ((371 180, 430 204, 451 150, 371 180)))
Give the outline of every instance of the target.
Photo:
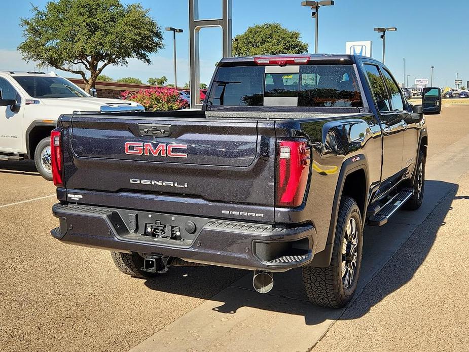
POLYGON ((126 274, 174 265, 302 267, 309 299, 343 307, 365 224, 423 200, 423 113, 380 62, 354 55, 224 58, 201 111, 75 114, 51 134, 62 242, 112 251, 126 274))

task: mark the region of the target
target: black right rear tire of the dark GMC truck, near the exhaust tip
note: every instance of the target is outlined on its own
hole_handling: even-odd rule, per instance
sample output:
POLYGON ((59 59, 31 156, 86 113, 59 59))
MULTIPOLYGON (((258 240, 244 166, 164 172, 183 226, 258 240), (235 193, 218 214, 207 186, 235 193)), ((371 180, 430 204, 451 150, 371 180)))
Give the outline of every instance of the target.
POLYGON ((303 267, 303 283, 308 299, 323 307, 345 307, 356 290, 362 265, 362 248, 363 226, 360 209, 353 198, 342 197, 337 217, 331 264, 327 268, 303 267), (353 223, 355 231, 348 228, 348 225, 353 226, 353 223), (348 241, 348 239, 352 239, 351 237, 353 237, 353 242, 356 241, 355 244, 348 241), (344 242, 347 243, 345 254, 343 254, 344 242), (350 274, 349 268, 354 267, 351 276, 344 276, 342 262, 344 262, 345 273, 350 274))

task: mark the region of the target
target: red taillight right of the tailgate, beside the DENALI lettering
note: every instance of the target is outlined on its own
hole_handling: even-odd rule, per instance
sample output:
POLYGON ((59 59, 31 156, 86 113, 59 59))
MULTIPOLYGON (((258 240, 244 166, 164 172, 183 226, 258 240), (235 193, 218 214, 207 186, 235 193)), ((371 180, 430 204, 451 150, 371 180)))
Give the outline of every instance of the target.
POLYGON ((303 202, 311 165, 305 140, 280 140, 277 144, 276 205, 294 207, 303 202))

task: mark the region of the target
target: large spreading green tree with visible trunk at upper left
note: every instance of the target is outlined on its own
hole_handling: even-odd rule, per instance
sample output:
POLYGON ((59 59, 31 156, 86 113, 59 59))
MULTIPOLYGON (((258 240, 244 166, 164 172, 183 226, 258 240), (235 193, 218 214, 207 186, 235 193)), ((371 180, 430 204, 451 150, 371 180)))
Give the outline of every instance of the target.
POLYGON ((21 18, 23 59, 80 75, 86 91, 107 65, 127 65, 131 58, 150 64, 149 55, 163 48, 160 26, 140 4, 58 0, 31 12, 21 18))

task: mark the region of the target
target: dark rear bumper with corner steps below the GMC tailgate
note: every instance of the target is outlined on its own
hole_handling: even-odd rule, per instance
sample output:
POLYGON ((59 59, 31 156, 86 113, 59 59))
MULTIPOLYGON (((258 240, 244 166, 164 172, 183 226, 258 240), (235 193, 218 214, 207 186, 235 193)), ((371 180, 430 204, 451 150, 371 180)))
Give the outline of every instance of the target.
MULTIPOLYGON (((148 237, 135 240, 117 209, 58 203, 52 212, 60 220, 60 227, 53 229, 51 235, 66 243, 248 270, 285 271, 303 266, 311 262, 316 245, 312 225, 273 228, 208 220, 195 239, 183 246, 155 243, 148 237), (127 235, 131 239, 125 238, 127 235)), ((157 217, 158 214, 153 216, 157 217)))

